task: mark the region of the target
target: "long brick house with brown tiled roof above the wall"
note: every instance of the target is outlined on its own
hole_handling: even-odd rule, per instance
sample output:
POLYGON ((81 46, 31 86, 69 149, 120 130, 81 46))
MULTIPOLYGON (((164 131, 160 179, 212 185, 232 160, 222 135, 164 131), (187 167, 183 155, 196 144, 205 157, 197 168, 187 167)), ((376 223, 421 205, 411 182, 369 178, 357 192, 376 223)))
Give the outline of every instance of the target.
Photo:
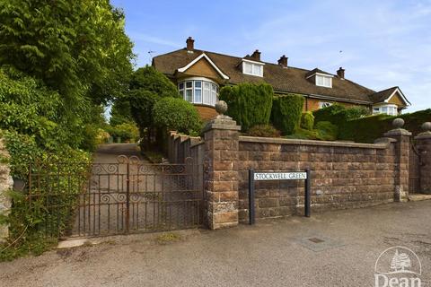
POLYGON ((224 85, 265 82, 278 95, 299 93, 305 98, 303 110, 316 110, 333 103, 363 106, 374 114, 398 115, 410 103, 399 87, 373 91, 347 80, 345 70, 330 74, 318 68, 306 70, 287 65, 283 55, 277 64, 260 60, 259 50, 251 56, 233 57, 187 47, 153 58, 153 66, 178 85, 184 100, 193 103, 203 119, 216 116, 218 91, 224 85))

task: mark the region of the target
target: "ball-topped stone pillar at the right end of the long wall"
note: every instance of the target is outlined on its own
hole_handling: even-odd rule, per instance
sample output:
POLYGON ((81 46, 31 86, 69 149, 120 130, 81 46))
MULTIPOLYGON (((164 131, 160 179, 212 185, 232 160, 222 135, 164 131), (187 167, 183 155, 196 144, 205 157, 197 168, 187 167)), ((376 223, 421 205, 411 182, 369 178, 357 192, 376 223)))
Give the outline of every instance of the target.
POLYGON ((411 133, 402 128, 404 120, 395 118, 392 122, 394 129, 384 134, 396 140, 395 143, 395 174, 394 198, 396 202, 407 201, 409 198, 409 152, 411 133))

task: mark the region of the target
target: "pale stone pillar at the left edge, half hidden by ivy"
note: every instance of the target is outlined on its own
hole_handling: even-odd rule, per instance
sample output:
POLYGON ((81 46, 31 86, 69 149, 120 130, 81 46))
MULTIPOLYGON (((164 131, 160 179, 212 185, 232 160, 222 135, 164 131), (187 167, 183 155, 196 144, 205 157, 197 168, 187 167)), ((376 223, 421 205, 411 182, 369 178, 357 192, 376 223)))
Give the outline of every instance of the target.
MULTIPOLYGON (((9 153, 0 139, 0 215, 7 216, 11 209, 11 198, 7 192, 13 187, 13 180, 9 169, 9 153)), ((7 225, 0 224, 0 243, 9 236, 7 225)))

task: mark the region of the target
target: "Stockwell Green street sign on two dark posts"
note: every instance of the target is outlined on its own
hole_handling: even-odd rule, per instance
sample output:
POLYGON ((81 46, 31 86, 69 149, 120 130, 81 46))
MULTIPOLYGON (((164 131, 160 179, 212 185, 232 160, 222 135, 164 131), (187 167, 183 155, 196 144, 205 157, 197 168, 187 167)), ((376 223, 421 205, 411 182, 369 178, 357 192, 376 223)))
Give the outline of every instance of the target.
POLYGON ((312 189, 312 176, 311 170, 306 169, 304 171, 271 171, 271 172, 255 172, 249 170, 249 224, 255 223, 255 206, 254 206, 254 181, 259 180, 298 180, 303 179, 304 181, 304 193, 303 193, 303 205, 304 215, 310 217, 311 215, 311 189, 312 189))

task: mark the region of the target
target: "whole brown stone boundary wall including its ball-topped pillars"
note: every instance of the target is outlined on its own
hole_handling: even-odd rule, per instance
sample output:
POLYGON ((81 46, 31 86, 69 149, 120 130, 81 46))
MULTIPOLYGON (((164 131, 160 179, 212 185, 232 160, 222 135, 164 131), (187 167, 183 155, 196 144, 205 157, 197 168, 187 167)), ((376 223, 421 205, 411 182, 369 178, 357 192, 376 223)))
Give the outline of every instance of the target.
MULTIPOLYGON (((198 177, 203 179, 204 218, 210 229, 220 229, 248 222, 249 169, 311 169, 312 213, 406 201, 411 134, 402 125, 394 120, 395 128, 372 144, 322 142, 242 136, 241 126, 221 114, 207 123, 203 140, 171 132, 168 153, 171 162, 192 157, 195 166, 203 167, 198 177)), ((430 145, 431 156, 429 138, 421 140, 430 145)), ((255 184, 257 219, 303 214, 303 180, 255 184)), ((423 186, 429 188, 431 179, 423 186)))

